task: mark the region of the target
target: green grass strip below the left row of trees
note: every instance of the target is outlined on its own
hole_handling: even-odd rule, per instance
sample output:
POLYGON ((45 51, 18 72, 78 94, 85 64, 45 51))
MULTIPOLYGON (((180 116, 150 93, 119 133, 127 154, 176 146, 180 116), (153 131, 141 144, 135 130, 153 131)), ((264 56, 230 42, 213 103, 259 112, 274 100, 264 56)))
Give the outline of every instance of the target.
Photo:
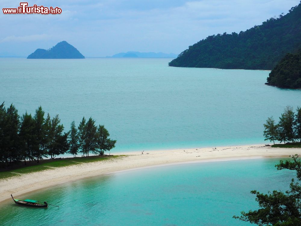
MULTIPOLYGON (((16 168, 16 169, 8 170, 8 171, 1 171, 0 172, 0 180, 8 178, 8 177, 19 176, 18 174, 13 174, 11 172, 27 174, 27 173, 33 173, 33 172, 37 172, 37 171, 51 169, 51 168, 48 168, 45 166, 64 167, 64 166, 78 165, 78 164, 89 163, 89 162, 106 161, 109 159, 122 158, 124 156, 125 155, 111 155, 111 156, 97 155, 97 156, 76 157, 76 158, 66 158, 66 159, 44 159, 44 160, 41 160, 40 163, 37 165, 30 165, 30 166, 24 166, 21 168, 16 168)), ((24 164, 24 163, 22 163, 22 164, 24 164)))

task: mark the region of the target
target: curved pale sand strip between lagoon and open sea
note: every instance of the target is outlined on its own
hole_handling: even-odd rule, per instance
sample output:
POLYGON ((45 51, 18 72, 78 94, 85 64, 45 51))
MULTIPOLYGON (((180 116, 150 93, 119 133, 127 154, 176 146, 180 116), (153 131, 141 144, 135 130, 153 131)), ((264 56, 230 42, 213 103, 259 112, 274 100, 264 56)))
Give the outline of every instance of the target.
POLYGON ((301 154, 301 148, 289 149, 271 148, 265 145, 244 145, 144 151, 143 155, 141 152, 120 152, 113 154, 126 156, 101 162, 51 168, 40 172, 23 174, 20 176, 18 175, 17 177, 0 180, 0 202, 10 199, 10 194, 20 196, 21 194, 41 188, 118 171, 187 162, 288 157, 293 154, 301 154))

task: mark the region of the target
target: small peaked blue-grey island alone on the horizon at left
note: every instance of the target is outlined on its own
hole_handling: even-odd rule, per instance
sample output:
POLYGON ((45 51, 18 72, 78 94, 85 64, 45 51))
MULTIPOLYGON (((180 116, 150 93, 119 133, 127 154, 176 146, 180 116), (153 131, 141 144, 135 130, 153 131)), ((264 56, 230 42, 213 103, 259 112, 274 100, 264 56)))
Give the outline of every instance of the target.
POLYGON ((51 49, 37 49, 27 59, 84 59, 85 57, 66 41, 57 43, 51 49))

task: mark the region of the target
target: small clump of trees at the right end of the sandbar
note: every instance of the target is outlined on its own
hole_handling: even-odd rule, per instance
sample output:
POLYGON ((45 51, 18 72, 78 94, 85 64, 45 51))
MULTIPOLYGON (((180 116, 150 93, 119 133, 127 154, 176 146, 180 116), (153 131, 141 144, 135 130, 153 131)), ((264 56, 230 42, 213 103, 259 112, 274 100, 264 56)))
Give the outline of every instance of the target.
POLYGON ((265 140, 275 140, 281 142, 301 142, 301 108, 297 108, 297 112, 293 112, 293 108, 287 106, 284 109, 284 113, 279 117, 278 124, 275 124, 273 117, 269 117, 265 124, 263 124, 265 130, 263 136, 265 140))

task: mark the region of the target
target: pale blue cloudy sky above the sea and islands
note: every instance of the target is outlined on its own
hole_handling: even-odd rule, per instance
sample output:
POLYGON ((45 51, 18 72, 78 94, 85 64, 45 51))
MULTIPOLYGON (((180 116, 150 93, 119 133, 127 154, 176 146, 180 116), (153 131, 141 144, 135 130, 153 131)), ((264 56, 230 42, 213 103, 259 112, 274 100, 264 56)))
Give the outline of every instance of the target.
MULTIPOLYGON (((24 2, 24 1, 22 1, 24 2)), ((0 0, 0 56, 28 56, 63 40, 85 57, 119 52, 179 54, 218 33, 245 31, 300 0, 38 0, 61 14, 3 14, 20 2, 0 0)))

